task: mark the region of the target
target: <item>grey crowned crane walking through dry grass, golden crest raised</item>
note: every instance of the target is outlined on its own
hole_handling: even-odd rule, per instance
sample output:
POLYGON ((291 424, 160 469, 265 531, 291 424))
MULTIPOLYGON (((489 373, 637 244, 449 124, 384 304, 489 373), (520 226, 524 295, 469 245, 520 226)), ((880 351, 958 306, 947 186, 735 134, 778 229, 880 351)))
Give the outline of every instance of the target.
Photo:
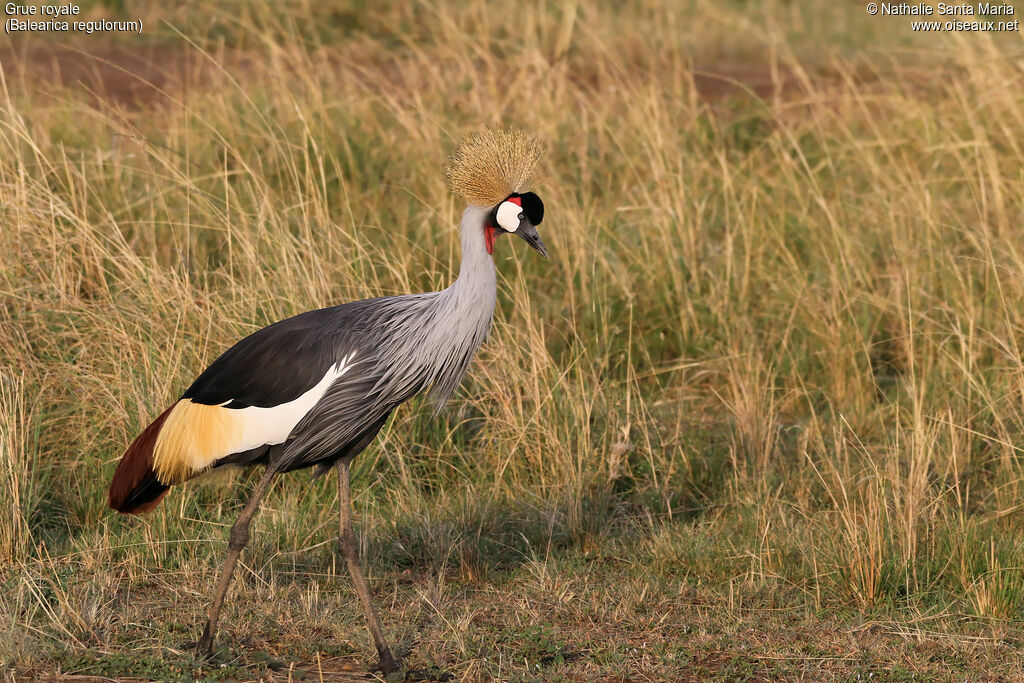
POLYGON ((128 446, 110 506, 153 510, 170 486, 210 470, 261 464, 252 498, 231 526, 209 618, 196 643, 212 653, 217 617, 249 523, 274 476, 315 466, 338 472, 338 545, 385 675, 398 669, 359 567, 348 468, 398 405, 421 392, 452 396, 490 328, 492 254, 505 232, 547 256, 537 232, 544 205, 526 191, 542 145, 518 131, 486 131, 459 145, 445 169, 467 201, 459 278, 440 292, 382 297, 311 310, 224 351, 128 446))

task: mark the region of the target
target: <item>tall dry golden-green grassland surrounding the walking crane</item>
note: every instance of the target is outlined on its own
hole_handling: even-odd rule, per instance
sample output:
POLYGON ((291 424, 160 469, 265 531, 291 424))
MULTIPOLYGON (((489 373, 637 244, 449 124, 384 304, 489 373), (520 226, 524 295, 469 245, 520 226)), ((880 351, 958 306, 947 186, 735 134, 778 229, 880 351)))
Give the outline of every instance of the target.
POLYGON ((364 674, 330 477, 268 497, 213 664, 181 645, 252 475, 142 518, 105 485, 241 336, 446 286, 445 153, 516 125, 552 258, 499 243, 468 381, 354 472, 407 661, 1024 677, 1024 50, 834 4, 204 1, 5 38, 0 671, 364 674))

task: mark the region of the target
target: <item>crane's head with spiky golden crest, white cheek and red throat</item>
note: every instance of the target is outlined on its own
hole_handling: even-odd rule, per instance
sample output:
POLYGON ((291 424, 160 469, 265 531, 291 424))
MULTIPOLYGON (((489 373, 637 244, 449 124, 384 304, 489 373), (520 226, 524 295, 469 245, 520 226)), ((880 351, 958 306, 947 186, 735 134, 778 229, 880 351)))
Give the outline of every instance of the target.
POLYGON ((489 207, 483 222, 484 244, 494 254, 495 240, 518 234, 539 254, 548 250, 537 226, 544 220, 544 203, 531 191, 544 145, 518 130, 485 130, 466 138, 449 158, 449 185, 469 204, 489 207))

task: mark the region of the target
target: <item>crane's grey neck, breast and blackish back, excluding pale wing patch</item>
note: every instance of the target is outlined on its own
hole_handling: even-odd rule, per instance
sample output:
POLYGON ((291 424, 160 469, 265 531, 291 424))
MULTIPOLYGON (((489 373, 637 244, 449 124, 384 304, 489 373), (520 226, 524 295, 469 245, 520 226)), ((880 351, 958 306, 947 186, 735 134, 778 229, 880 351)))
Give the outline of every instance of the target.
MULTIPOLYGON (((212 467, 266 462, 290 471, 329 466, 357 455, 391 411, 414 395, 428 391, 438 403, 450 398, 486 338, 495 310, 497 281, 483 244, 484 215, 477 207, 463 214, 462 265, 447 289, 307 311, 246 337, 211 364, 184 397, 209 405, 227 401, 225 407, 233 410, 273 408, 259 404, 266 393, 278 404, 292 401, 332 368, 346 368, 302 416, 283 447, 259 444, 226 455, 212 467), (283 346, 290 353, 259 356, 258 350, 283 346), (261 360, 262 367, 251 367, 261 360), (245 383, 233 387, 222 379, 239 377, 245 383)), ((274 411, 261 419, 274 419, 274 411)))

